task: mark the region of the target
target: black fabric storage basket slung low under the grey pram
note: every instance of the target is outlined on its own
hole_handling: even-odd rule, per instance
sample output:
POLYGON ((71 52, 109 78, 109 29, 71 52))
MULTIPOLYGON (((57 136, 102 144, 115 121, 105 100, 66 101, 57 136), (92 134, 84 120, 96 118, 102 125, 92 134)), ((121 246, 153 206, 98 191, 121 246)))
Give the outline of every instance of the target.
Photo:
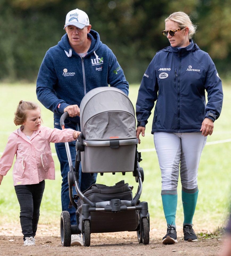
MULTIPOLYGON (((120 181, 114 186, 106 186, 102 184, 93 184, 83 194, 92 202, 98 203, 102 201, 110 201, 111 199, 119 199, 131 201, 133 187, 129 187, 128 183, 120 181)), ((82 215, 82 199, 78 199, 77 214, 82 215)), ((139 224, 139 214, 137 210, 119 211, 119 212, 91 212, 91 233, 105 233, 118 231, 136 230, 139 224), (119 225, 118 225, 119 223, 119 225)), ((81 230, 81 222, 79 230, 81 230)))

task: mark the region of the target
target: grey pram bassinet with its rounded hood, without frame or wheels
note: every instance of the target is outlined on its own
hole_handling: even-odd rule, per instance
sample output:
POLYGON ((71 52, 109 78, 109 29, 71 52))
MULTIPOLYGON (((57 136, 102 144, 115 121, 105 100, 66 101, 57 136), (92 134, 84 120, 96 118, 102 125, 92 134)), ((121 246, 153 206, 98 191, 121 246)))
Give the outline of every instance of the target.
POLYGON ((136 118, 127 95, 114 87, 95 88, 83 98, 80 113, 83 145, 86 146, 81 152, 82 171, 133 171, 136 118))

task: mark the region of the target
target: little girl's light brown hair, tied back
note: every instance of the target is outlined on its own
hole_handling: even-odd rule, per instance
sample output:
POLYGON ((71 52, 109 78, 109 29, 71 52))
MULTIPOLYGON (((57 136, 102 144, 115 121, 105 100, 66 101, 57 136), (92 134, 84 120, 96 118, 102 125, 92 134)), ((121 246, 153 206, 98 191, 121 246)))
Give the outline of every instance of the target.
POLYGON ((37 108, 39 108, 39 106, 36 103, 30 102, 30 101, 19 101, 16 112, 14 113, 15 125, 22 125, 23 122, 26 121, 27 111, 35 110, 37 108))

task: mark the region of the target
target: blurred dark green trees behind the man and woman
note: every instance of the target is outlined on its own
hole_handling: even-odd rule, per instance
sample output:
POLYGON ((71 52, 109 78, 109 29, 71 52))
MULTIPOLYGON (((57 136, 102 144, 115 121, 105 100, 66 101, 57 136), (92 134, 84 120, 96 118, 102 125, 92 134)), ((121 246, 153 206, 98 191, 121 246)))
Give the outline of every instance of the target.
POLYGON ((1 0, 1 80, 35 81, 46 51, 65 33, 66 14, 75 8, 86 11, 130 83, 139 83, 155 53, 169 45, 161 33, 164 19, 180 10, 198 25, 194 40, 211 55, 219 73, 230 72, 229 0, 1 0))

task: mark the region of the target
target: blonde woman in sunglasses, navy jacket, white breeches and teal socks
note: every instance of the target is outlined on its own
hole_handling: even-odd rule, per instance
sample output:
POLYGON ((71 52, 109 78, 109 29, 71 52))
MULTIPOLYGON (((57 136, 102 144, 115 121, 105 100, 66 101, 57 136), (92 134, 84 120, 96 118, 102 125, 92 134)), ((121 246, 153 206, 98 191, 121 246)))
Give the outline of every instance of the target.
POLYGON ((164 244, 177 243, 179 165, 184 240, 197 241, 192 218, 198 197, 198 165, 207 135, 212 135, 213 123, 222 107, 221 79, 208 53, 192 40, 195 29, 184 12, 173 13, 165 19, 162 33, 169 39, 170 46, 158 51, 149 64, 136 103, 139 139, 140 133, 145 135, 145 125, 156 101, 152 134, 162 176, 161 196, 167 222, 164 244))

